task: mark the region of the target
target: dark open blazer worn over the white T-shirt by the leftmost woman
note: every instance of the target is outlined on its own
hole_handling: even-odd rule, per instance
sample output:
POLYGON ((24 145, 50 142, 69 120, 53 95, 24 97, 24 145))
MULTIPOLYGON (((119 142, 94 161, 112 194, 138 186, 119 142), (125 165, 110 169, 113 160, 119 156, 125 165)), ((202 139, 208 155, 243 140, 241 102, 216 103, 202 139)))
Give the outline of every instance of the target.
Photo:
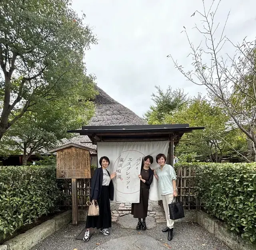
MULTIPOLYGON (((110 176, 109 172, 108 172, 108 175, 110 176)), ((103 181, 103 169, 102 167, 100 167, 95 170, 94 175, 92 177, 92 181, 91 181, 91 199, 92 200, 100 200, 102 181, 103 181)), ((112 180, 110 180, 108 188, 109 188, 110 200, 114 200, 114 185, 112 180)))

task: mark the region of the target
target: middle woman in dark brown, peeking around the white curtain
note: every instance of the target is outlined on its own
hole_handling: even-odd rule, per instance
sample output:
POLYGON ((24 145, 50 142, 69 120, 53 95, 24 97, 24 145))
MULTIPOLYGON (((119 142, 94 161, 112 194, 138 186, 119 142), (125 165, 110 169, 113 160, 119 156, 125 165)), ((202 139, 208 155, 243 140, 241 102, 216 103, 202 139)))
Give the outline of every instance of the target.
POLYGON ((148 196, 149 188, 153 181, 154 172, 150 169, 153 163, 153 157, 147 155, 142 161, 142 168, 140 171, 140 203, 132 203, 132 212, 134 218, 138 218, 137 230, 146 230, 146 217, 148 215, 148 196), (143 219, 141 221, 141 219, 143 219))

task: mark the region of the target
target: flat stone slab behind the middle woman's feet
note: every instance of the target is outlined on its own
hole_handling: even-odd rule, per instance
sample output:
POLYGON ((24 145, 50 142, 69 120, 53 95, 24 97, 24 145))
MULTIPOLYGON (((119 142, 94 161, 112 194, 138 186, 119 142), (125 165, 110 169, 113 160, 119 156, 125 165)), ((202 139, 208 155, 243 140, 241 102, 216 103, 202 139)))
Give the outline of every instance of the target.
MULTIPOLYGON (((125 216, 118 218, 116 223, 118 225, 120 225, 121 228, 136 229, 136 226, 138 224, 138 219, 133 218, 132 214, 127 214, 125 216)), ((148 216, 146 218, 146 226, 148 229, 155 228, 156 227, 156 219, 148 216)))

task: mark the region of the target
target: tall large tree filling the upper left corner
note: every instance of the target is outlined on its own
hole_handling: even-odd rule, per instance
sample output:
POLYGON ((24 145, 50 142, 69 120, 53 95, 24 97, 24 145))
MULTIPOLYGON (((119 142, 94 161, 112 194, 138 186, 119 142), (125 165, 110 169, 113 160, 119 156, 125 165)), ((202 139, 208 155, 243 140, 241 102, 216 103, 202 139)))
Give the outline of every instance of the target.
POLYGON ((86 73, 84 52, 96 38, 70 4, 0 2, 0 140, 26 112, 78 96, 86 73))

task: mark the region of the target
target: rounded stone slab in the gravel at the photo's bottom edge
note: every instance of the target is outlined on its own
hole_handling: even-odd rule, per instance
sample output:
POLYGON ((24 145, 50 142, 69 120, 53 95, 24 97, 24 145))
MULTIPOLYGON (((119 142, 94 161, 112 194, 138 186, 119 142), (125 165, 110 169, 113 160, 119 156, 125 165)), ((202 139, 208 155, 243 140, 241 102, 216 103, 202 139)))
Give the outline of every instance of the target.
POLYGON ((166 250, 170 249, 158 240, 150 236, 125 236, 118 239, 110 240, 101 246, 95 248, 96 250, 166 250), (122 247, 120 247, 122 246, 122 247))

